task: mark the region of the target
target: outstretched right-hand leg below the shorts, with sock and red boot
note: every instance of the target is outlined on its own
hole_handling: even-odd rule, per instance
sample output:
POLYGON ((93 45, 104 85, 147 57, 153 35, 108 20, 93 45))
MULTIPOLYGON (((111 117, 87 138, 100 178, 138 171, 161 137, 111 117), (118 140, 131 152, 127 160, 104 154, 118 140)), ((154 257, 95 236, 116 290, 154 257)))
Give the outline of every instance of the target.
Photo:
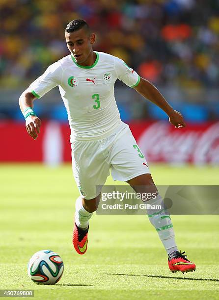
MULTIPOLYGON (((127 180, 127 182, 137 193, 156 193, 157 197, 155 199, 148 200, 147 203, 157 205, 157 207, 164 207, 162 197, 159 195, 150 174, 136 176, 127 180)), ((177 249, 173 225, 168 212, 164 208, 150 209, 148 217, 151 224, 157 230, 167 252, 170 271, 181 271, 182 273, 195 271, 195 264, 186 258, 187 255, 183 255, 185 252, 180 253, 177 249)))

